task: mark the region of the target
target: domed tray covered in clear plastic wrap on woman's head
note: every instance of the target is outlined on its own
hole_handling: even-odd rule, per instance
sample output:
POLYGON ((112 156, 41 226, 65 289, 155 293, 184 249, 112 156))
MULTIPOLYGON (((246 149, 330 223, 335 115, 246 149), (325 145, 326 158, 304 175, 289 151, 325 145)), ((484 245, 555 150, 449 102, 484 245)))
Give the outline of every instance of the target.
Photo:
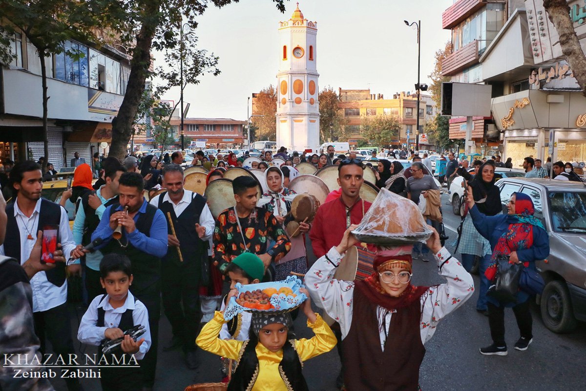
POLYGON ((384 188, 352 231, 360 242, 379 246, 424 243, 431 233, 432 230, 413 201, 384 188))

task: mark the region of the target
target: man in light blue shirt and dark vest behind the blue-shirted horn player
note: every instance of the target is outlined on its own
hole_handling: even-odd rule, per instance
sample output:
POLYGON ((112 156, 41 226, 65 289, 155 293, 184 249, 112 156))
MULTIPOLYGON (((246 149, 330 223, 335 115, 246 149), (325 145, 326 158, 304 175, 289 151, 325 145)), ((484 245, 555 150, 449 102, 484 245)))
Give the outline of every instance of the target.
MULTIPOLYGON (((105 159, 103 168, 105 185, 81 197, 81 207, 77 209, 73 223, 73 240, 82 246, 91 243, 91 234, 100 224, 106 208, 118 202, 118 179, 126 172, 124 166, 115 157, 105 159)), ((85 250, 84 253, 86 255, 86 290, 88 302, 91 302, 97 295, 105 293, 100 284, 100 261, 104 255, 100 250, 85 250)))

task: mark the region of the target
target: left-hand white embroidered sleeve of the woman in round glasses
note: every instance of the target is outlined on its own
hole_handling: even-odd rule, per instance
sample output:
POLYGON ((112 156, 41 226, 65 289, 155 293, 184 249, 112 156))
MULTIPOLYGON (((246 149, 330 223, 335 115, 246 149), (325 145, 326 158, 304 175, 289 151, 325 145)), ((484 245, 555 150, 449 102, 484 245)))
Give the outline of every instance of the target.
POLYGON ((341 260, 342 256, 332 247, 305 274, 305 285, 315 304, 340 324, 342 338, 345 338, 352 323, 354 283, 333 278, 341 260))

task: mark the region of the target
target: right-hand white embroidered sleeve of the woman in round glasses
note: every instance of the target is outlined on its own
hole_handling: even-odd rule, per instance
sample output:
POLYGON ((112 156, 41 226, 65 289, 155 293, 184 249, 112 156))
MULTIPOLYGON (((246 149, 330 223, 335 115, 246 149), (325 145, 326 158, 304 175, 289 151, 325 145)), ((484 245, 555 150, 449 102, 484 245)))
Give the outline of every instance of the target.
POLYGON ((435 285, 421 296, 421 342, 429 341, 434 335, 435 328, 445 315, 460 307, 474 293, 474 281, 462 264, 451 257, 448 250, 442 247, 435 254, 440 275, 446 283, 435 285))

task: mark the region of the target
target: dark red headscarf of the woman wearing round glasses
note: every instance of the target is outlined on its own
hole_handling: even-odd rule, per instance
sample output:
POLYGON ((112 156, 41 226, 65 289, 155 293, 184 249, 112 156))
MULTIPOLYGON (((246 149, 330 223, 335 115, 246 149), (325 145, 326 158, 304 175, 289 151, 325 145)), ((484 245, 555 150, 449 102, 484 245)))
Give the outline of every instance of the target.
POLYGON ((358 288, 370 301, 387 310, 400 310, 409 307, 414 301, 419 300, 429 287, 416 287, 408 283, 407 288, 399 297, 392 297, 387 294, 379 282, 379 273, 386 270, 386 266, 393 264, 404 264, 407 270, 411 270, 413 259, 410 255, 377 256, 374 258, 374 271, 366 280, 356 281, 358 288))

